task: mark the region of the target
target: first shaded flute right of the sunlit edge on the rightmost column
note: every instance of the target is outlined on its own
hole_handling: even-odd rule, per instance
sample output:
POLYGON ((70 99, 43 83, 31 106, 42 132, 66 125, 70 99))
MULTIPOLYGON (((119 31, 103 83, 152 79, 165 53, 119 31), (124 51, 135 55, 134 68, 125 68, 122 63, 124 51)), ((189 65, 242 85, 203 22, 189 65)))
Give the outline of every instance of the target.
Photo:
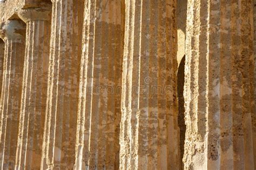
MULTIPOLYGON (((218 169, 220 167, 220 51, 221 51, 221 35, 220 35, 220 20, 221 16, 220 6, 221 2, 207 1, 208 5, 208 29, 204 29, 200 26, 202 32, 208 32, 208 44, 206 58, 208 58, 208 89, 207 97, 207 125, 206 125, 206 145, 207 145, 207 168, 218 169)), ((201 1, 203 3, 203 1, 201 1)), ((202 8, 204 6, 202 5, 202 8)), ((227 10, 227 9, 226 9, 227 10)), ((201 15, 201 13, 200 13, 201 15)), ((199 44, 199 48, 203 47, 203 42, 199 44)), ((203 69, 203 66, 199 66, 199 70, 203 69)), ((200 80, 198 83, 201 83, 200 80)), ((203 93, 204 91, 199 91, 203 93)), ((205 91, 206 92, 206 91, 205 91)), ((204 102, 204 100, 203 100, 204 102)), ((198 119, 200 122, 201 120, 198 119)))

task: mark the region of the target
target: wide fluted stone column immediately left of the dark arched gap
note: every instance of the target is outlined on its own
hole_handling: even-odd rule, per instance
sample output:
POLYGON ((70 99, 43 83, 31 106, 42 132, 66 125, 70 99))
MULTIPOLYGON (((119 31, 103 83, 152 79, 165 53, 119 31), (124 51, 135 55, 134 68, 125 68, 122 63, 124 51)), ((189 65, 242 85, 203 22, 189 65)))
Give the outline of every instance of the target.
POLYGON ((179 169, 176 1, 125 5, 120 169, 179 169))

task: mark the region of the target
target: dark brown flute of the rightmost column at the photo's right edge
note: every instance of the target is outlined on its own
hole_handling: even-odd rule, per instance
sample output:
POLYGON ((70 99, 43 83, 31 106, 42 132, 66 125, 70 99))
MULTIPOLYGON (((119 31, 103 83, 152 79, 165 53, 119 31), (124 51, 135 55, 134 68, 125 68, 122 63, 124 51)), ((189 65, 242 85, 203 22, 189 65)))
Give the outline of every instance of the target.
POLYGON ((253 158, 253 137, 252 137, 252 107, 251 101, 251 76, 250 69, 254 67, 251 62, 251 23, 250 16, 252 14, 252 1, 241 1, 241 73, 242 73, 242 128, 244 129, 244 154, 245 154, 245 169, 254 168, 253 158), (251 13, 249 13, 251 12, 251 13))

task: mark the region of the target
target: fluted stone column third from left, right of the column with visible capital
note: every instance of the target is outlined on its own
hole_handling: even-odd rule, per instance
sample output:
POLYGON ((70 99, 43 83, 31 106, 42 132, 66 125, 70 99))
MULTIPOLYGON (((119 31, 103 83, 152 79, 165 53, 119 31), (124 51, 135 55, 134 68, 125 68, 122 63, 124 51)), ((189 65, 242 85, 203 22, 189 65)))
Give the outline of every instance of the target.
POLYGON ((79 63, 84 4, 53 1, 42 168, 75 164, 79 63))

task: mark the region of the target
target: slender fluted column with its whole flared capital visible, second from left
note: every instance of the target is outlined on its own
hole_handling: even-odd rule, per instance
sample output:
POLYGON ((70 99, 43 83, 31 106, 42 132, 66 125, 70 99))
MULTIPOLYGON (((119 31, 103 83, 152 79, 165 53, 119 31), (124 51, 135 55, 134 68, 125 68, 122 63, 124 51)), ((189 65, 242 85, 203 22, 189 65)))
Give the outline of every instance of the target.
POLYGON ((26 23, 26 48, 19 119, 16 169, 38 169, 43 144, 49 42, 49 8, 18 11, 26 23))

